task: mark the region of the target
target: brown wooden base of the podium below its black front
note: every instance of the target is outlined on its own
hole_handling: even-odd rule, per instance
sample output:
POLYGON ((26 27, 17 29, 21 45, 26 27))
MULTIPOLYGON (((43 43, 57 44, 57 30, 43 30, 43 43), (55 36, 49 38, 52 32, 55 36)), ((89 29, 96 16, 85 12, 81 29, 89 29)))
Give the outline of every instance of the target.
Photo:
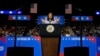
POLYGON ((43 56, 58 56, 59 38, 47 37, 42 38, 43 56))

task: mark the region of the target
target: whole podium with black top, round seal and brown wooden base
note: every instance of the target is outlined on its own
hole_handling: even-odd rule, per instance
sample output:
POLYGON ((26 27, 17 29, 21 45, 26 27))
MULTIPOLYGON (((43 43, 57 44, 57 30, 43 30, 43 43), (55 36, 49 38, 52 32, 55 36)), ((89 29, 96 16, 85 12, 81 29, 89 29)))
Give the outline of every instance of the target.
POLYGON ((61 25, 43 24, 39 27, 42 37, 43 56, 58 56, 61 25))

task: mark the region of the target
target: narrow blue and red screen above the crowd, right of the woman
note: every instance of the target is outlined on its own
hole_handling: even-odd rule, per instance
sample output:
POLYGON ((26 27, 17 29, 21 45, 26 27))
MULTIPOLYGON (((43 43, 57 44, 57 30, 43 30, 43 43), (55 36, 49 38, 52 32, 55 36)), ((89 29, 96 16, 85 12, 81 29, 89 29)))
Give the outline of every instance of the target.
POLYGON ((72 16, 72 21, 93 21, 93 16, 72 16))

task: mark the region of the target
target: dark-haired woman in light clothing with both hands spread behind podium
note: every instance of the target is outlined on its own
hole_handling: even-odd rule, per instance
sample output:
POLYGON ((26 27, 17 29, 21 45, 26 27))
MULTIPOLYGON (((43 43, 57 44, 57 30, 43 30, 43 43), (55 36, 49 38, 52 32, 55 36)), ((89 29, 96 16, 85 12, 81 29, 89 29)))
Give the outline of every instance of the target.
POLYGON ((59 18, 53 17, 53 14, 51 12, 48 14, 47 17, 41 19, 42 24, 58 24, 59 20, 59 18))

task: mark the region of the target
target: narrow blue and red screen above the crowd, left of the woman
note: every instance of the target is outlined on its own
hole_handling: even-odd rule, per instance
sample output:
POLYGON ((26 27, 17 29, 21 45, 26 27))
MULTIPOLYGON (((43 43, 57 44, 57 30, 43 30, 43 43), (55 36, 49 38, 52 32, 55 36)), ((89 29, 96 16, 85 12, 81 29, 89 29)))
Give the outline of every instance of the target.
POLYGON ((9 15, 8 20, 30 20, 30 15, 9 15))

